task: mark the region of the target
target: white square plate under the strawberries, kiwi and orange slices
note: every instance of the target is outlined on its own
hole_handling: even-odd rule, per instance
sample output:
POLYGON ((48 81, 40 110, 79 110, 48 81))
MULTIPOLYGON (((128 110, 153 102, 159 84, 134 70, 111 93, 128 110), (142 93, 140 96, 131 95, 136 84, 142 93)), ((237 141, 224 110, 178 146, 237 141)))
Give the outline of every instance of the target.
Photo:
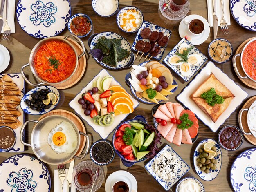
MULTIPOLYGON (((90 116, 86 116, 84 114, 84 110, 82 109, 82 106, 78 103, 79 98, 81 98, 81 95, 83 93, 85 93, 86 91, 92 89, 93 87, 93 82, 94 80, 96 81, 100 76, 101 78, 105 77, 105 76, 110 76, 110 74, 108 73, 108 71, 106 71, 105 69, 102 69, 99 74, 97 76, 95 76, 82 90, 81 92, 79 92, 76 97, 70 101, 69 105, 72 109, 75 110, 75 112, 77 114, 79 114, 81 116, 81 118, 83 118, 85 121, 87 121, 87 123, 94 129, 95 132, 97 132, 101 138, 106 139, 109 134, 115 129, 115 127, 117 127, 117 125, 119 125, 119 123, 121 121, 123 121, 129 114, 121 114, 121 115, 117 115, 114 116, 114 123, 110 126, 106 126, 106 127, 102 127, 100 125, 96 125, 93 122, 93 119, 90 116)), ((117 80, 115 80, 115 78, 113 78, 110 86, 112 85, 120 85, 120 83, 117 82, 117 80)), ((128 93, 128 92, 127 92, 128 93)), ((129 93, 128 93, 129 94, 129 93)), ((137 100, 135 100, 130 94, 130 99, 133 102, 133 108, 135 109, 136 107, 139 106, 139 102, 137 100)))

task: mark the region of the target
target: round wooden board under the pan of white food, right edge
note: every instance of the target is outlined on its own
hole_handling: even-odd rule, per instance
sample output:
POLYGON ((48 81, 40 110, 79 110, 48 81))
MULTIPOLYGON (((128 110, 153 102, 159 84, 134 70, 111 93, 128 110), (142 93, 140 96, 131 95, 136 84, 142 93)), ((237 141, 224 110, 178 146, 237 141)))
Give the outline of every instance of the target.
MULTIPOLYGON (((246 101, 245 105, 243 105, 242 109, 249 109, 249 107, 252 105, 252 103, 256 100, 256 96, 253 96, 252 98, 250 98, 249 100, 246 101)), ((250 129, 248 127, 248 124, 247 124, 247 114, 248 114, 248 111, 244 111, 243 114, 242 114, 242 125, 243 125, 243 128, 244 128, 244 131, 246 133, 249 133, 250 132, 250 129)), ((253 135, 245 135, 243 134, 245 138, 247 138, 247 140, 252 143, 253 145, 256 145, 256 138, 253 136, 253 135)))

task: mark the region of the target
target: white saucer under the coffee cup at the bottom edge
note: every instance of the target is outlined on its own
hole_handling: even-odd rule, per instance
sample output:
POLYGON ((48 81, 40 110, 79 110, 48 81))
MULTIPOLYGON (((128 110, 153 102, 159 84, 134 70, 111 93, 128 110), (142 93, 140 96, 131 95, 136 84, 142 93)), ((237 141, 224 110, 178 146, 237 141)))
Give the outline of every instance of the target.
POLYGON ((127 171, 116 171, 110 174, 105 182, 105 192, 112 192, 112 186, 117 181, 125 181, 129 186, 129 192, 137 192, 137 181, 135 177, 127 171))

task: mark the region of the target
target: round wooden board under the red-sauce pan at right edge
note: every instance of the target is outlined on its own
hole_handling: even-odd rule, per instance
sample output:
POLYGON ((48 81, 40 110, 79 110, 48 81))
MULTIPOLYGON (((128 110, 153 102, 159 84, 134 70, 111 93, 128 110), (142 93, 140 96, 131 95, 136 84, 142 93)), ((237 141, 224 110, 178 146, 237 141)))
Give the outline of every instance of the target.
MULTIPOLYGON (((236 53, 235 54, 240 54, 242 53, 242 50, 243 48, 245 47, 246 43, 249 42, 250 40, 254 39, 256 37, 252 37, 252 38, 249 38, 247 40, 245 40, 237 49, 236 49, 236 53)), ((241 65, 241 60, 240 60, 240 57, 237 57, 236 58, 236 67, 237 67, 237 70, 239 71, 239 73, 241 74, 241 76, 246 76, 243 68, 242 68, 242 65, 241 65)), ((238 77, 239 78, 239 77, 238 77)), ((248 87, 251 87, 253 89, 256 89, 256 82, 254 82, 253 80, 247 78, 247 79, 241 79, 239 78, 245 85, 247 85, 248 87)))

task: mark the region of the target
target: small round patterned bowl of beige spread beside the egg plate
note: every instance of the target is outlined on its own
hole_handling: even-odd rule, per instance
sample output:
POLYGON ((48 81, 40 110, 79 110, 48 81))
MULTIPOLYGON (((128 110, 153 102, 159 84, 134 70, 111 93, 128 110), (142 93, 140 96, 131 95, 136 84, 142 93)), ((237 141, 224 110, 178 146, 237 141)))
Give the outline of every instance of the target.
POLYGON ((209 44, 208 54, 214 62, 225 63, 231 58, 233 54, 233 47, 228 40, 218 38, 209 44), (223 53, 221 54, 222 50, 223 53))

